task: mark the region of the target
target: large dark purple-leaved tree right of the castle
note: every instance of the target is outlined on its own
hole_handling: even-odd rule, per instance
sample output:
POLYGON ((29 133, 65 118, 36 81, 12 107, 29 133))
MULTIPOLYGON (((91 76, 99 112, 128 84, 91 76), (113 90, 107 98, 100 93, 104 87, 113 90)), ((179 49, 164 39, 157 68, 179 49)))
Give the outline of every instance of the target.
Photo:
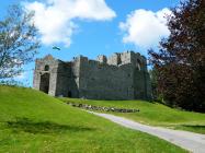
POLYGON ((149 50, 158 90, 171 106, 205 111, 205 1, 181 2, 167 17, 170 36, 149 50))

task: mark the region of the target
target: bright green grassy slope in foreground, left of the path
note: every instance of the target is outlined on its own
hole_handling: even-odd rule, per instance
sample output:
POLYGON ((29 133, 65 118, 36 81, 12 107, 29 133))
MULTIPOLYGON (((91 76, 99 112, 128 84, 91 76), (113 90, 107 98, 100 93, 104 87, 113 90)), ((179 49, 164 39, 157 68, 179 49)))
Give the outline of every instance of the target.
POLYGON ((184 150, 31 89, 0 86, 0 152, 181 153, 184 150))

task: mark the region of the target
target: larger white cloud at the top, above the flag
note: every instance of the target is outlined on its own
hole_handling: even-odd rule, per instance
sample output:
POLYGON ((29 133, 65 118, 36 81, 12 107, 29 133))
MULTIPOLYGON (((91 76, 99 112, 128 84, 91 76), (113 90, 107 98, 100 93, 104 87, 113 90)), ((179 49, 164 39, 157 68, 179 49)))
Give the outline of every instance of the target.
POLYGON ((45 0, 45 3, 25 2, 24 7, 35 11, 34 22, 46 45, 64 43, 70 46, 78 27, 73 19, 109 21, 116 16, 104 0, 45 0))

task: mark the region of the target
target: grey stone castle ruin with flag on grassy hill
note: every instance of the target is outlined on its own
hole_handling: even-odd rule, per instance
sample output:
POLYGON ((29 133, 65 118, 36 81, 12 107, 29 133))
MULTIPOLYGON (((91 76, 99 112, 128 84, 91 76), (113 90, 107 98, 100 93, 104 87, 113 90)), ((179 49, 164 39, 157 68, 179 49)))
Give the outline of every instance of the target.
POLYGON ((36 59, 34 89, 52 96, 88 99, 149 99, 147 61, 138 52, 126 51, 89 60, 80 56, 61 61, 50 55, 36 59))

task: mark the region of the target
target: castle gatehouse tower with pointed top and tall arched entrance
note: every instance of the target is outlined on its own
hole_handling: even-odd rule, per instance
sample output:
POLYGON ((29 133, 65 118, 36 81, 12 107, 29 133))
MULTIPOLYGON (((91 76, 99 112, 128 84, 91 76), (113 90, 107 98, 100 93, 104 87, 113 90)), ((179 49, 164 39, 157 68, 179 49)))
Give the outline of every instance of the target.
POLYGON ((34 89, 52 96, 70 96, 72 94, 78 97, 71 62, 64 62, 48 55, 43 59, 36 59, 35 64, 34 89))

